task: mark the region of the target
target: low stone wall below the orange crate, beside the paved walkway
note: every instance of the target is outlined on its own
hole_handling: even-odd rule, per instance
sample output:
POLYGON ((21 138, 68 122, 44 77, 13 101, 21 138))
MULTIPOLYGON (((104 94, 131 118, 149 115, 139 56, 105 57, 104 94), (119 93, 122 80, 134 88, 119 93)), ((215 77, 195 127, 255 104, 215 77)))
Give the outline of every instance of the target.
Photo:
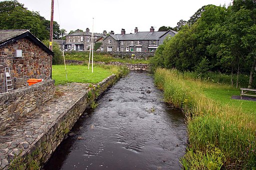
POLYGON ((54 80, 46 80, 31 86, 0 94, 0 130, 9 123, 26 115, 51 99, 54 94, 54 80))

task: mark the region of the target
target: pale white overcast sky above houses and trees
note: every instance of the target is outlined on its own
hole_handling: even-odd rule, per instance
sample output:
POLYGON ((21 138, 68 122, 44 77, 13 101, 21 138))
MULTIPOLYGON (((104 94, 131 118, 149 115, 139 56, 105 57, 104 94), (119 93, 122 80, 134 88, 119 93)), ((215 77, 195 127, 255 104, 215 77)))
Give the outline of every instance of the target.
MULTIPOLYGON (((2 1, 2 0, 0 0, 2 1)), ((51 0, 18 0, 28 10, 38 11, 50 20, 51 0)), ((86 27, 102 33, 113 30, 120 33, 149 31, 154 26, 157 31, 161 26, 175 27, 180 20, 188 20, 203 5, 229 5, 232 0, 54 0, 54 21, 60 28, 67 30, 86 27)))

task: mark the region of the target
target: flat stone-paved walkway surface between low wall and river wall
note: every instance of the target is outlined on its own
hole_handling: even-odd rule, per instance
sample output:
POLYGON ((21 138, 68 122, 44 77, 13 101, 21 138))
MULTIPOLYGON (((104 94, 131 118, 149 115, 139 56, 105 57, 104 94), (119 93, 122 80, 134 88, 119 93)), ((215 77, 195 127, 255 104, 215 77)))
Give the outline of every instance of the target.
POLYGON ((59 96, 29 112, 9 124, 0 132, 0 170, 7 166, 16 156, 29 152, 33 146, 56 123, 59 116, 70 109, 73 103, 87 93, 88 84, 71 83, 58 86, 59 96))

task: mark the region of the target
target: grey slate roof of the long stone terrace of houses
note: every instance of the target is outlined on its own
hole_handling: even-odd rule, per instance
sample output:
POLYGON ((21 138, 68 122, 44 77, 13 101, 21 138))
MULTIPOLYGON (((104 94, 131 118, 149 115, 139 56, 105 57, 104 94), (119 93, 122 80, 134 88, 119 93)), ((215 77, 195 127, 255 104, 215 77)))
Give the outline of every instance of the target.
MULTIPOLYGON (((176 31, 168 30, 176 34, 176 31)), ((109 36, 113 37, 115 40, 159 40, 161 36, 166 34, 168 31, 154 31, 154 32, 136 32, 132 34, 109 34, 109 36)))

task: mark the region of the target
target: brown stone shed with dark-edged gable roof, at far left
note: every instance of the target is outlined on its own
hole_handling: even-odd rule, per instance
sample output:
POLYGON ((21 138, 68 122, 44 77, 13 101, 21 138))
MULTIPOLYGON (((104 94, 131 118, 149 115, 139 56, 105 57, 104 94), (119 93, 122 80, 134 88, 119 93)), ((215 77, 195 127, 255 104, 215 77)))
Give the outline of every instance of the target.
POLYGON ((30 78, 51 79, 53 52, 29 30, 0 30, 0 93, 4 89, 4 69, 10 69, 14 88, 30 78))

